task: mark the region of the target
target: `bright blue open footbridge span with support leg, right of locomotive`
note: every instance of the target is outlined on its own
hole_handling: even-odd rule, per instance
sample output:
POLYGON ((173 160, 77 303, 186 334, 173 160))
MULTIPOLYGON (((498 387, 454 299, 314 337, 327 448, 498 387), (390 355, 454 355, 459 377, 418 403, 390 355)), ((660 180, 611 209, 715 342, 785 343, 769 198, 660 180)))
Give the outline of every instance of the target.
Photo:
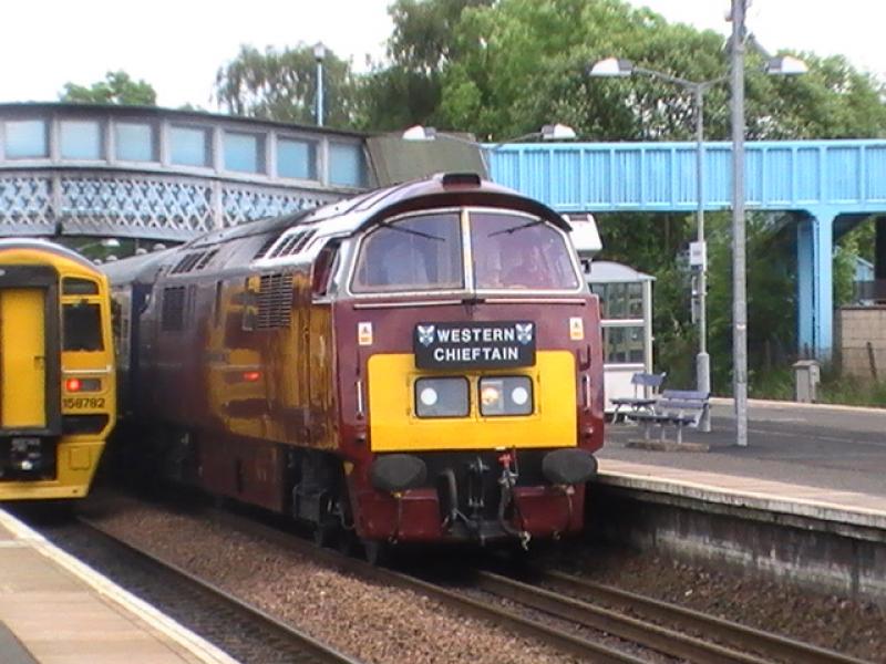
MULTIPOLYGON (((691 212, 696 149, 694 143, 512 144, 492 151, 490 166, 496 181, 562 212, 691 212)), ((834 239, 886 215, 886 141, 749 142, 745 151, 748 209, 784 212, 795 222, 800 345, 827 355, 834 239)), ((703 167, 704 208, 729 209, 731 144, 707 143, 703 167)))

